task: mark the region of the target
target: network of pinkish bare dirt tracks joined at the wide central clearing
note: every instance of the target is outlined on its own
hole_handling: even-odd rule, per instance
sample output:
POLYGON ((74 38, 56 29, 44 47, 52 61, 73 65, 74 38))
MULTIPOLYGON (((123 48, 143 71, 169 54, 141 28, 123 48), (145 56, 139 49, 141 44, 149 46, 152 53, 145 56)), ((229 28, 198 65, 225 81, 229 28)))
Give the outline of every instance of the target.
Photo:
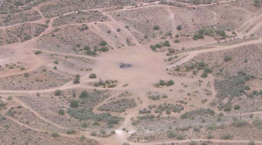
MULTIPOLYGON (((57 1, 57 0, 56 0, 57 1)), ((53 1, 55 2, 55 1, 53 1)), ((228 1, 224 1, 224 2, 228 2, 228 1)), ((38 8, 42 5, 45 4, 49 4, 52 2, 48 2, 48 3, 43 3, 40 4, 32 9, 38 11, 42 17, 42 19, 37 20, 37 21, 31 21, 31 22, 26 22, 26 23, 44 23, 46 18, 43 16, 43 14, 38 10, 38 8)), ((167 6, 167 5, 161 5, 159 4, 159 2, 154 2, 151 4, 144 4, 145 6, 141 6, 141 7, 132 7, 132 6, 126 6, 121 10, 116 10, 116 11, 128 11, 128 10, 132 10, 132 9, 140 9, 140 8, 146 8, 146 7, 166 7, 170 16, 170 19, 172 21, 172 32, 173 34, 177 34, 177 29, 176 27, 176 21, 174 20, 174 14, 172 13, 172 11, 170 10, 170 7, 172 6, 167 6)), ((191 5, 189 7, 205 7, 208 5, 191 5)), ((172 7, 174 8, 174 7, 172 7)), ((236 48, 239 46, 245 46, 245 45, 251 45, 251 44, 259 44, 262 43, 262 38, 258 38, 256 40, 251 40, 251 41, 247 41, 247 42, 243 42, 243 43, 238 43, 235 45, 230 45, 230 46, 219 46, 219 45, 213 45, 215 48, 210 48, 210 49, 203 49, 203 50, 197 50, 197 51, 190 51, 190 52, 185 52, 185 53, 180 53, 178 55, 187 55, 186 57, 182 58, 181 60, 177 61, 176 63, 172 64, 172 65, 167 65, 165 64, 165 62, 163 62, 163 60, 166 58, 165 56, 165 52, 161 53, 155 53, 153 51, 151 51, 151 49, 149 48, 149 45, 142 45, 138 42, 138 40, 135 38, 135 36, 130 33, 129 30, 125 29, 125 25, 122 22, 118 22, 116 21, 112 16, 108 15, 109 12, 105 12, 103 11, 103 9, 92 9, 92 10, 97 10, 102 12, 103 15, 108 16, 110 18, 111 21, 106 21, 106 22, 97 22, 97 23, 101 23, 106 25, 107 27, 109 27, 111 29, 111 31, 113 33, 115 33, 117 35, 117 37, 119 38, 119 41, 121 43, 123 43, 126 47, 123 49, 117 49, 114 51, 110 51, 107 53, 101 53, 100 56, 98 57, 91 57, 91 56, 85 56, 85 55, 78 55, 78 54, 70 54, 70 53, 57 53, 57 52, 52 52, 52 51, 45 51, 45 50, 41 50, 44 53, 53 53, 53 54, 59 54, 59 55, 68 55, 68 56, 79 56, 79 57, 84 57, 84 58, 89 58, 92 59, 94 61, 96 61, 97 66, 94 68, 94 71, 97 75, 99 76, 103 76, 103 77, 107 77, 107 78, 112 78, 112 77, 116 77, 119 80, 119 84, 117 87, 114 88, 107 88, 108 90, 134 90, 136 96, 140 97, 141 103, 137 103, 138 106, 136 106, 135 108, 132 109, 128 109, 126 111, 127 116, 125 116, 125 120, 123 121, 122 125, 119 127, 119 129, 116 131, 115 135, 112 135, 111 137, 108 138, 99 138, 99 137, 94 137, 94 136, 90 136, 89 134, 83 132, 83 134, 86 135, 86 137, 89 138, 93 138, 95 140, 97 140, 101 145, 115 145, 115 144, 122 144, 123 142, 129 142, 127 141, 127 137, 130 135, 130 133, 123 133, 121 130, 121 128, 125 127, 128 128, 130 130, 130 132, 134 132, 136 131, 136 128, 133 127, 131 125, 131 121, 130 118, 131 117, 135 117, 138 116, 138 110, 139 109, 143 109, 144 106, 148 106, 148 97, 146 96, 146 92, 150 91, 152 89, 158 91, 160 90, 159 88, 155 88, 152 86, 152 84, 154 84, 155 82, 157 82, 159 80, 159 76, 161 76, 163 79, 172 79, 173 76, 166 74, 166 68, 172 68, 173 66, 177 66, 180 64, 183 64, 187 61, 189 61, 190 59, 194 58, 195 56, 202 54, 202 53, 208 53, 208 52, 213 52, 213 51, 221 51, 221 50, 225 50, 225 49, 232 49, 232 48, 236 48), (123 33, 128 36, 129 38, 131 38, 131 41, 135 44, 135 46, 127 46, 125 39, 122 39, 121 34, 116 33, 116 28, 120 28, 123 33), (123 60, 124 62, 130 62, 134 65, 134 69, 135 71, 128 71, 128 69, 121 69, 119 71, 119 69, 117 69, 117 63, 123 60), (154 63, 153 63, 154 62, 154 63), (116 66, 116 67, 115 67, 116 66), (122 87, 122 84, 125 84, 126 82, 128 82, 128 86, 127 87, 122 87)), ((90 10, 83 10, 83 11, 90 11, 90 10)), ((72 12, 70 12, 72 13, 72 12)), ((67 14, 70 14, 67 13, 67 14)), ((67 15, 67 14, 63 14, 63 15, 67 15)), ((0 46, 0 50, 7 50, 10 49, 14 52, 13 57, 16 56, 21 56, 21 55, 26 55, 28 56, 28 59, 31 59, 32 65, 30 65, 29 68, 26 68, 25 70, 18 70, 18 71, 0 71, 0 77, 8 77, 10 75, 15 75, 15 74, 23 74, 26 72, 31 72, 36 70, 37 68, 39 68, 40 66, 45 65, 45 60, 43 60, 41 57, 38 57, 37 55, 34 54, 35 50, 39 50, 35 47, 35 42, 44 34, 48 34, 50 33, 52 30, 55 29, 55 27, 52 26, 54 19, 56 19, 57 17, 51 18, 50 22, 48 24, 48 28, 41 33, 39 36, 34 37, 28 41, 25 41, 23 43, 13 43, 13 44, 7 44, 7 45, 3 45, 0 46)), ((245 22, 243 24, 244 25, 249 25, 250 22, 245 22)), ((23 23, 20 23, 23 24, 23 23)), ((20 24, 15 24, 13 26, 8 26, 8 29, 20 24)), ((69 25, 74 25, 74 26, 81 26, 83 23, 72 23, 69 25)), ((105 41, 109 42, 110 46, 115 46, 114 42, 112 42, 108 37, 106 37, 102 31, 96 27, 96 25, 94 24, 94 22, 91 23, 84 23, 87 26, 89 26, 90 30, 93 31, 95 34, 99 35, 100 37, 102 37, 105 41)), ((63 25, 63 26, 59 26, 59 28, 61 27, 65 27, 68 25, 63 25)), ((250 30, 250 33, 254 33, 257 30, 259 30, 262 27, 262 23, 258 23, 255 27, 253 27, 250 30)), ((6 27, 0 27, 0 29, 5 30, 6 27)), ((134 31, 134 28, 130 28, 134 31)), ((138 32, 138 31, 137 31, 138 32)), ((248 33, 249 34, 249 33, 248 33)), ((243 33, 239 33, 237 35, 237 37, 243 37, 245 34, 243 33)), ((154 40, 153 40, 154 41, 154 40)), ((193 41, 193 40, 192 40, 193 41)), ((204 45, 208 45, 208 44, 212 44, 216 41, 213 42, 205 42, 205 41, 201 41, 199 42, 199 46, 204 46, 204 45)), ((188 44, 190 42, 185 43, 185 47, 190 46, 190 44, 188 44)), ((94 79, 94 80, 90 80, 88 78, 88 75, 85 76, 81 76, 81 83, 80 84, 73 84, 72 82, 68 82, 62 86, 58 86, 58 87, 54 87, 51 89, 44 89, 44 90, 0 90, 0 94, 4 97, 7 98, 7 96, 9 95, 16 95, 16 96, 22 96, 22 95, 27 95, 27 94, 35 94, 35 93, 42 93, 42 92, 53 92, 57 89, 60 90, 65 90, 65 89, 101 89, 101 90, 105 90, 105 88, 97 88, 94 86, 88 86, 86 85, 86 83, 89 83, 91 81, 97 81, 98 79, 94 79)), ((183 79, 183 78, 182 78, 183 79)), ((208 78, 206 78, 208 81, 211 82, 211 91, 215 92, 215 88, 214 88, 214 76, 209 75, 208 78)), ((213 93, 211 98, 209 100, 212 100, 212 98, 215 98, 215 94, 213 93)), ((109 98, 108 98, 109 99, 109 98)), ((108 100, 107 99, 107 100, 108 100)), ((98 104, 97 106, 94 107, 94 112, 95 113, 101 113, 101 111, 97 110, 97 107, 102 105, 103 103, 107 102, 107 100, 105 100, 104 102, 98 104)), ((24 102, 22 102, 20 99, 13 97, 13 100, 15 102, 15 104, 8 106, 7 109, 2 110, 1 114, 5 114, 8 109, 12 106, 15 106, 17 104, 23 106, 26 109, 29 109, 32 113, 34 113, 36 115, 36 117, 38 117, 39 119, 42 119, 45 122, 48 122, 52 125, 54 125, 55 127, 58 128, 63 128, 61 125, 53 123, 51 121, 49 121, 48 119, 46 119, 45 117, 41 116, 41 114, 39 114, 38 112, 36 112, 35 110, 33 110, 32 108, 30 108, 29 104, 26 104, 24 102)), ((208 104, 208 103, 207 103, 208 104)), ((208 105, 206 106, 201 106, 203 108, 208 108, 208 105)), ((184 111, 187 111, 187 109, 185 109, 184 111)), ((251 112, 252 114, 261 114, 262 111, 259 112, 251 112)), ((251 113, 245 113, 245 114, 251 114, 251 113)), ((120 114, 123 115, 123 114, 120 114)), ((178 114, 174 114, 171 116, 177 116, 178 114)), ((228 115, 233 115, 233 114, 228 114, 228 115)), ((24 126, 26 128, 35 130, 35 131, 39 131, 39 132, 46 132, 46 130, 41 130, 41 129, 37 129, 34 127, 30 127, 29 125, 23 124, 17 120, 15 120, 14 118, 5 115, 6 118, 10 119, 10 121, 13 121, 21 126, 24 126)), ((47 131, 50 132, 50 131, 47 131)), ((59 135, 61 136, 66 136, 66 137, 79 137, 80 135, 68 135, 68 134, 63 134, 63 133, 59 133, 59 135)), ((190 140, 174 140, 174 141, 164 141, 164 143, 183 143, 183 142, 190 142, 190 141, 207 141, 206 139, 190 139, 190 140)), ((209 140, 212 142, 221 142, 221 143, 247 143, 247 140, 209 140)), ((262 143, 262 141, 255 141, 256 143, 262 143)), ((133 142, 129 142, 130 144, 137 144, 137 145, 155 145, 155 144, 162 144, 162 141, 159 142, 151 142, 151 143, 133 143, 133 142)))

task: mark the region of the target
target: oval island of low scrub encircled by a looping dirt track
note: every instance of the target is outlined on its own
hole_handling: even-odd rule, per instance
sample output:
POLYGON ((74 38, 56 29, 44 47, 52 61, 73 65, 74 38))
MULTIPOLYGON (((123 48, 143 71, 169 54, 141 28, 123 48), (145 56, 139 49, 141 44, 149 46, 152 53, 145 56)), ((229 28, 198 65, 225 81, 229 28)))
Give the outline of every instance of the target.
POLYGON ((128 108, 134 108, 137 106, 135 99, 124 98, 117 101, 112 101, 107 104, 99 106, 97 110, 99 111, 113 111, 113 112, 124 112, 128 108))

